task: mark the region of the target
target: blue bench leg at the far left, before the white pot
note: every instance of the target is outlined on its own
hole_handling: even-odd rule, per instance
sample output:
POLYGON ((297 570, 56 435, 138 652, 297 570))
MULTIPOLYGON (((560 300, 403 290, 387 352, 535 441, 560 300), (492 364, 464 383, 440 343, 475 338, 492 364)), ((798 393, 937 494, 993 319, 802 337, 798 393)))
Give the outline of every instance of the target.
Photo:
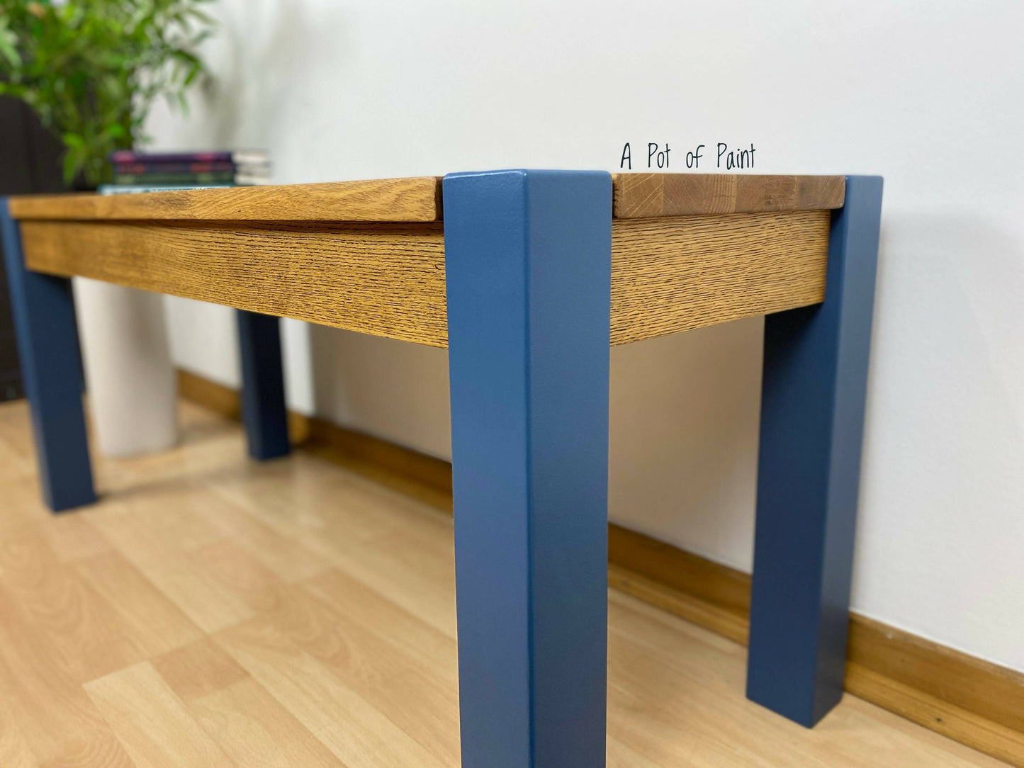
POLYGON ((4 263, 17 354, 39 461, 43 499, 54 512, 92 504, 82 412, 82 368, 71 281, 25 267, 17 222, 0 201, 4 263))

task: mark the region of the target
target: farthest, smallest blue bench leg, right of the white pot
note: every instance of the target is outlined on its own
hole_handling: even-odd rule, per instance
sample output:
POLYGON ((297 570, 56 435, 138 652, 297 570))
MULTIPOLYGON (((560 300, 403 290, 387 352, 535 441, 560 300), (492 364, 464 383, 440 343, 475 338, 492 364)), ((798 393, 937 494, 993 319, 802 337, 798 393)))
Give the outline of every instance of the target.
POLYGON ((242 352, 242 421, 249 456, 258 461, 287 456, 288 412, 281 367, 281 330, 276 317, 238 310, 242 352))

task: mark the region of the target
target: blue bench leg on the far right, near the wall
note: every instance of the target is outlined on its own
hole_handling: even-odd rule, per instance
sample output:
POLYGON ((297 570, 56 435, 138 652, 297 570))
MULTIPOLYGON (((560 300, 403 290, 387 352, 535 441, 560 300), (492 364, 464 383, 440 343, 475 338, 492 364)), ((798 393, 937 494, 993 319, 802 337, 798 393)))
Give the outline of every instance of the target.
POLYGON ((765 321, 746 695, 808 727, 843 695, 881 212, 849 177, 824 303, 765 321))

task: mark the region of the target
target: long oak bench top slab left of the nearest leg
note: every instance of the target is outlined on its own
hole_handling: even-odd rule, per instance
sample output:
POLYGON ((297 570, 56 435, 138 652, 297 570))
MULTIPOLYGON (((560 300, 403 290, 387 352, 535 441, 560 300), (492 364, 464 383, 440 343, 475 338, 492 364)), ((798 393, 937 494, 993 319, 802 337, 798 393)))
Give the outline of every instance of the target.
POLYGON ((440 210, 440 179, 434 176, 10 199, 11 215, 22 220, 436 221, 440 210))

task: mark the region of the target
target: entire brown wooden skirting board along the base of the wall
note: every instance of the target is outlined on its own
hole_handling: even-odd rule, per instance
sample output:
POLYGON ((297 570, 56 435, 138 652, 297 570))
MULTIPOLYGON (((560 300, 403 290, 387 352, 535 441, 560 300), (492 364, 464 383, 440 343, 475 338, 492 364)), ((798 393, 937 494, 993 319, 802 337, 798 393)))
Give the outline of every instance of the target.
MULTIPOLYGON (((179 371, 181 396, 239 418, 236 390, 179 371)), ((291 415, 303 450, 439 509, 452 510, 452 465, 322 419, 291 415)), ((608 584, 746 644, 751 577, 614 523, 608 584)), ((1024 674, 857 613, 846 689, 949 738, 1024 768, 1024 674)))

